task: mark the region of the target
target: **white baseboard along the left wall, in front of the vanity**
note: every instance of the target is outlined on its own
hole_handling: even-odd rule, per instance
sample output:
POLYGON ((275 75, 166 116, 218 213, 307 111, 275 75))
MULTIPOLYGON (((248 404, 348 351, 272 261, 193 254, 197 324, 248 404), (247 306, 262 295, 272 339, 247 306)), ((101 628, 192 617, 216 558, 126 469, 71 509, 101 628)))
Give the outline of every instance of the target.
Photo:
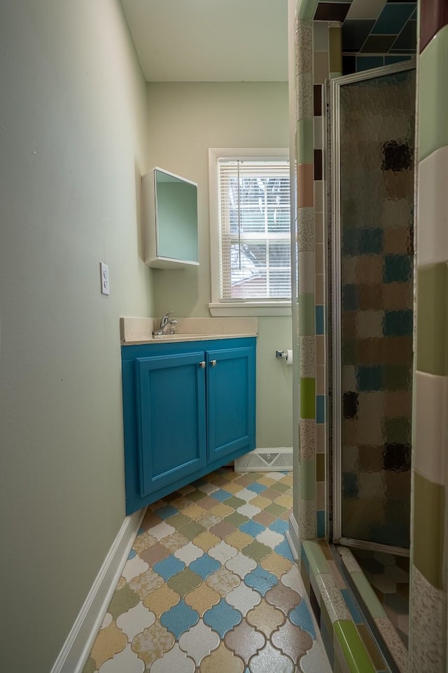
POLYGON ((145 511, 125 518, 50 673, 82 673, 145 511))

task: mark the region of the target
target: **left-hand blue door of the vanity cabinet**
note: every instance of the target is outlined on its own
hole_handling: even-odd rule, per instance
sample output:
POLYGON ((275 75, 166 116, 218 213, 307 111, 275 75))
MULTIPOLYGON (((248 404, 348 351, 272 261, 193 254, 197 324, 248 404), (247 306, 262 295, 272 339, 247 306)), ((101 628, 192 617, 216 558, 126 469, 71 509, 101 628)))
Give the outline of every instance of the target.
POLYGON ((204 351, 136 358, 141 497, 207 464, 205 371, 204 351))

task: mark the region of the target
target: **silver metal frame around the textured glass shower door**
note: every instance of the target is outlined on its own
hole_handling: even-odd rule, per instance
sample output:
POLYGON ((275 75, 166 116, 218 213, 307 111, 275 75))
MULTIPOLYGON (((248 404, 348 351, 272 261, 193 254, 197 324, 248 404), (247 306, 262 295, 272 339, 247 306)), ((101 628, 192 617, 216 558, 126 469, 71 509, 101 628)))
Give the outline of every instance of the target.
MULTIPOLYGON (((326 146, 330 158, 327 165, 331 165, 326 179, 328 181, 329 207, 330 213, 330 232, 331 247, 329 254, 331 268, 331 288, 329 292, 331 306, 330 315, 332 318, 331 339, 328 340, 328 358, 331 362, 332 386, 329 399, 331 400, 330 417, 332 435, 332 507, 329 508, 329 515, 332 519, 332 542, 335 544, 347 545, 358 549, 376 550, 388 552, 399 556, 409 556, 409 550, 394 547, 392 545, 383 545, 376 542, 367 542, 355 538, 345 538, 342 536, 342 336, 341 336, 341 171, 340 171, 340 114, 339 104, 340 88, 346 84, 354 82, 376 79, 397 72, 405 72, 415 69, 415 57, 410 60, 392 65, 386 65, 372 70, 363 70, 362 72, 335 77, 328 83, 326 95, 328 99, 328 130, 330 139, 327 138, 326 146), (330 142, 328 142, 330 140, 330 142)), ((331 498, 330 498, 331 500, 331 498)), ((329 525, 329 522, 328 522, 329 525)), ((330 530, 330 526, 328 528, 330 530)))

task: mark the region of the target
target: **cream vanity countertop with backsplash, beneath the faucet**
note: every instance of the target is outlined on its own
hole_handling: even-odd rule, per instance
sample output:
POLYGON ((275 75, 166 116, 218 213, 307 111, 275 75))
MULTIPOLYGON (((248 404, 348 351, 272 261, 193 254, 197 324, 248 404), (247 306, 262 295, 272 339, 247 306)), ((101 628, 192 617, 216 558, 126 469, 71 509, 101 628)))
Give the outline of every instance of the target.
POLYGON ((172 344, 179 341, 238 339, 258 335, 257 318, 176 318, 175 334, 154 337, 160 318, 120 318, 120 339, 123 346, 135 344, 172 344))

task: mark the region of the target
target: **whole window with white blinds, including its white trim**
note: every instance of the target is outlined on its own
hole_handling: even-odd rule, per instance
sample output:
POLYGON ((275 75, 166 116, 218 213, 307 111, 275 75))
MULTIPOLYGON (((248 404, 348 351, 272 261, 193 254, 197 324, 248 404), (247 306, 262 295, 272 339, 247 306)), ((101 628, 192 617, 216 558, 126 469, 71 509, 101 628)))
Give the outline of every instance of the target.
POLYGON ((230 152, 210 150, 211 313, 278 313, 291 296, 288 153, 230 152))

